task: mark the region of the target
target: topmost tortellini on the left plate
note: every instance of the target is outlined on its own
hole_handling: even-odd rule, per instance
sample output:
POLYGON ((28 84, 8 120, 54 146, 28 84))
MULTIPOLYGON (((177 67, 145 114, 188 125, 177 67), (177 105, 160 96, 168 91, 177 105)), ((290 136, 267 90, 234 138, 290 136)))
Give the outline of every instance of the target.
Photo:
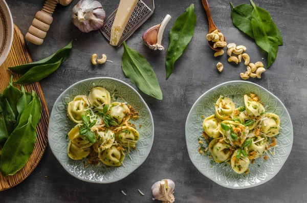
POLYGON ((103 87, 93 88, 88 98, 95 107, 111 103, 110 93, 103 87))

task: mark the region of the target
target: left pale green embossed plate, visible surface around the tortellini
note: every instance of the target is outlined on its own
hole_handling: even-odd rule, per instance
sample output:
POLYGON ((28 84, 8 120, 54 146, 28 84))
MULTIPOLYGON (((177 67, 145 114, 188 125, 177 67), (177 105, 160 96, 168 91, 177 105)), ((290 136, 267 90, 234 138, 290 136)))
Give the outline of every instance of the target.
MULTIPOLYGON (((114 101, 121 100, 111 99, 111 102, 114 101)), ((73 84, 55 101, 50 116, 48 140, 56 159, 69 174, 86 182, 113 183, 132 173, 146 160, 153 142, 153 120, 147 104, 133 87, 114 78, 90 78, 73 84), (122 96, 128 104, 133 105, 139 111, 140 118, 133 123, 136 124, 140 133, 140 140, 133 153, 130 152, 131 159, 126 156, 124 164, 120 167, 104 167, 102 164, 84 167, 86 159, 71 160, 67 154, 69 143, 67 134, 76 125, 67 117, 67 103, 77 95, 88 96, 93 87, 104 87, 111 96, 114 94, 122 96), (139 128, 140 124, 141 128, 139 128)))

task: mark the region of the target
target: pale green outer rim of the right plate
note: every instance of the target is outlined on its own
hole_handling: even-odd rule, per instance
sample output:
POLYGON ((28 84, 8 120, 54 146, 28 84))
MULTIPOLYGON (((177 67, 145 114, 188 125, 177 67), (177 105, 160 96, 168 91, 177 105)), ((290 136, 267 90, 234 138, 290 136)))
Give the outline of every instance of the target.
MULTIPOLYGON (((270 91, 268 91, 268 89, 266 89, 265 87, 262 87, 258 84, 255 84, 253 82, 249 82, 249 81, 240 81, 240 80, 234 80, 234 81, 228 81, 228 82, 224 82, 222 84, 219 84, 219 85, 216 85, 212 88, 210 88, 208 91, 206 91, 204 94, 202 94, 195 102, 194 104, 192 105, 190 111, 189 111, 189 114, 187 116, 187 119, 186 119, 186 123, 185 123, 185 138, 186 138, 186 145, 187 145, 187 150, 188 150, 188 154, 189 154, 189 157, 190 157, 190 160, 192 162, 192 164, 195 166, 195 168, 201 173, 203 174, 203 172, 198 168, 198 166, 196 166, 196 163, 194 163, 192 160, 193 160, 193 153, 190 152, 189 150, 189 146, 188 146, 188 143, 190 143, 190 141, 188 141, 188 134, 187 134, 187 129, 188 129, 188 118, 191 116, 192 114, 192 109, 195 108, 196 106, 196 103, 198 103, 199 100, 201 100, 204 96, 206 96, 207 94, 209 94, 211 91, 213 91, 214 89, 217 89, 218 87, 221 87, 221 86, 224 86, 226 84, 232 84, 232 83, 247 83, 247 84, 251 84, 251 85, 254 85, 260 89, 263 89, 265 91, 267 91, 271 96, 273 96, 277 101, 280 102, 280 104, 282 105, 282 107, 284 108, 284 112, 286 112, 286 114, 289 116, 289 123, 291 124, 291 134, 292 134, 292 137, 293 137, 293 125, 292 125, 292 120, 291 120, 291 117, 290 117, 290 114, 286 108, 286 106, 284 106, 284 104, 280 101, 280 99, 278 99, 278 97, 276 97, 273 93, 271 93, 270 91)), ((294 138, 294 137, 293 137, 294 138)), ((289 153, 286 155, 286 160, 280 165, 280 168, 274 172, 274 174, 272 174, 272 176, 268 177, 267 179, 265 179, 265 181, 261 181, 259 183, 256 183, 255 185, 249 185, 249 186, 243 186, 243 187, 233 187, 233 186, 226 186, 226 185, 223 185, 222 183, 219 183, 217 181, 215 181, 215 179, 211 178, 211 177, 208 177, 206 174, 203 174, 204 176, 206 176, 207 178, 209 178, 211 181, 213 181, 214 183, 220 185, 220 186, 223 186, 223 187, 226 187, 226 188, 230 188, 230 189, 247 189, 247 188, 252 188, 252 187, 256 187, 256 186, 259 186, 259 185, 262 185, 264 183, 267 183, 268 181, 270 181, 273 177, 275 177, 275 175, 281 170, 282 166, 284 165, 284 163, 286 163, 286 161, 288 160, 288 157, 292 151, 292 146, 293 146, 293 139, 291 141, 291 146, 290 146, 290 151, 289 153)))

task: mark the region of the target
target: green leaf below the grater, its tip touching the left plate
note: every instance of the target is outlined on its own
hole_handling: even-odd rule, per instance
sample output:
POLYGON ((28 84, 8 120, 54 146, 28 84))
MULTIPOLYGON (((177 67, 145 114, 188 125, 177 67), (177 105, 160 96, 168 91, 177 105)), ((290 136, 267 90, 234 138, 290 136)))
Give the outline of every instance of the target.
POLYGON ((125 41, 123 44, 122 69, 127 78, 143 93, 162 100, 162 91, 151 65, 139 52, 127 47, 125 41))

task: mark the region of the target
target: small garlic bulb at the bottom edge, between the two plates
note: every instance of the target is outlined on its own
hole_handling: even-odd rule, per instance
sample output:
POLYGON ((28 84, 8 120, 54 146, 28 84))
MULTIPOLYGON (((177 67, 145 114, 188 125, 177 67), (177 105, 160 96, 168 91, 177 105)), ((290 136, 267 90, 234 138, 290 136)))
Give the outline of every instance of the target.
POLYGON ((175 183, 171 179, 163 179, 152 185, 152 200, 160 200, 163 203, 172 203, 175 201, 173 195, 175 183))

